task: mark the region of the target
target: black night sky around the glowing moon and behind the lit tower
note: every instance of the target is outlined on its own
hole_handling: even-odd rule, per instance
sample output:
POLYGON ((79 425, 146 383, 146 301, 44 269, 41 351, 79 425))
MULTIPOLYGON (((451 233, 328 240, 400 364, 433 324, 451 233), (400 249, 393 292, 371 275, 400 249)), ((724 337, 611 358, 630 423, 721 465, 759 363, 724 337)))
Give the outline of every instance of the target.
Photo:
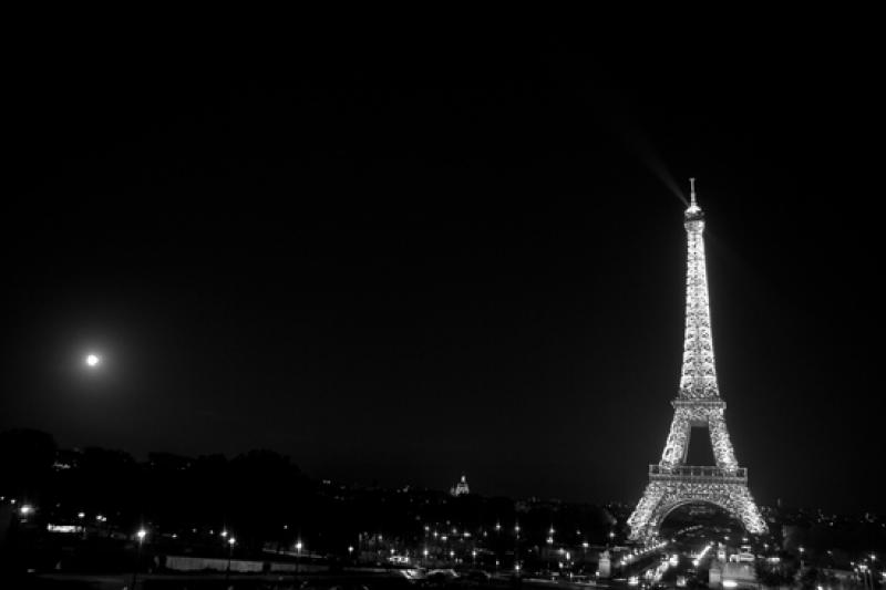
POLYGON ((752 491, 886 510, 877 69, 754 34, 18 46, 0 427, 633 503, 680 368, 668 179, 696 176, 752 491))

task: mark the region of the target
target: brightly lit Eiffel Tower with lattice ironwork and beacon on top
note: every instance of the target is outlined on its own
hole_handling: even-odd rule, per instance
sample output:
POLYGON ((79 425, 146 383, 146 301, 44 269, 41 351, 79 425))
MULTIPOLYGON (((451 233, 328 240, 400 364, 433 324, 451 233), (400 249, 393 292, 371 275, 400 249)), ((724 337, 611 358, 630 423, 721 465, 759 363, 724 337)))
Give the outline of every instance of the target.
POLYGON ((630 539, 650 541, 662 520, 687 504, 719 506, 740 520, 748 532, 762 534, 766 524, 748 489, 748 469, 739 467, 729 439, 725 402, 720 397, 708 308, 708 275, 704 262, 704 214, 696 201, 691 178, 691 204, 684 227, 689 244, 686 278, 686 337, 680 392, 671 402, 673 421, 661 460, 649 466, 649 484, 628 519, 630 539), (717 466, 686 465, 693 426, 707 427, 717 466))

